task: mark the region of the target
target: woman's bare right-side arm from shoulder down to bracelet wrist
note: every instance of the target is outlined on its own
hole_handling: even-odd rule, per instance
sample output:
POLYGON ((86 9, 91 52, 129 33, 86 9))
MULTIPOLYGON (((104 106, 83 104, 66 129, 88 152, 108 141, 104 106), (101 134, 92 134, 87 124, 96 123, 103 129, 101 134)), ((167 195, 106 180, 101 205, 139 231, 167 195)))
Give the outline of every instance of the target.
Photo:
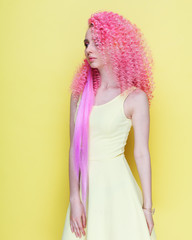
POLYGON ((151 208, 151 159, 148 146, 150 114, 147 95, 139 90, 133 102, 134 158, 142 185, 143 207, 151 208))

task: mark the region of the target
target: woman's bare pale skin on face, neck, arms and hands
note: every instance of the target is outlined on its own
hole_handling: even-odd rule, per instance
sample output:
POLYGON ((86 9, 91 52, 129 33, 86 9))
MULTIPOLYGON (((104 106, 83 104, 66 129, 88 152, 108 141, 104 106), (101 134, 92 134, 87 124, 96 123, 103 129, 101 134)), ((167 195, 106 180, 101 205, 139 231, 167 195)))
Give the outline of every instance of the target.
MULTIPOLYGON (((97 90, 95 96, 95 105, 104 104, 121 93, 117 85, 117 79, 112 74, 112 71, 106 71, 106 65, 102 60, 102 56, 97 50, 97 46, 91 37, 91 31, 88 28, 85 34, 85 56, 92 68, 97 68, 101 76, 101 86, 97 90), (94 61, 90 61, 89 57, 94 57, 94 61)), ((110 62, 107 65, 110 68, 110 62)), ((69 180, 70 180, 70 225, 71 231, 76 237, 85 235, 84 228, 86 227, 86 217, 83 204, 80 199, 80 185, 75 178, 75 171, 72 156, 72 140, 74 134, 74 116, 77 104, 74 102, 71 95, 70 100, 70 152, 69 152, 69 180)), ((143 192, 143 207, 152 207, 151 198, 151 159, 149 153, 149 128, 150 114, 147 95, 141 89, 135 89, 124 101, 125 116, 132 119, 134 129, 134 158, 137 165, 137 170, 142 185, 143 192)), ((152 214, 144 210, 145 218, 149 233, 151 234, 154 221, 152 214)))

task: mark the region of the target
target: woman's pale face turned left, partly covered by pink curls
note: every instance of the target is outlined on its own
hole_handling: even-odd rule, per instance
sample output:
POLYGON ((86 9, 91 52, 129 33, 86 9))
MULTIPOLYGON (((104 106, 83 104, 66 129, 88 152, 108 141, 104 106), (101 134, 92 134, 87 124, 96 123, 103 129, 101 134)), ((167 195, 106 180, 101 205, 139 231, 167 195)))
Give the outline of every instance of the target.
POLYGON ((92 39, 90 28, 88 28, 86 32, 84 46, 85 56, 90 66, 92 68, 101 69, 104 66, 103 57, 102 54, 98 51, 97 46, 92 39))

